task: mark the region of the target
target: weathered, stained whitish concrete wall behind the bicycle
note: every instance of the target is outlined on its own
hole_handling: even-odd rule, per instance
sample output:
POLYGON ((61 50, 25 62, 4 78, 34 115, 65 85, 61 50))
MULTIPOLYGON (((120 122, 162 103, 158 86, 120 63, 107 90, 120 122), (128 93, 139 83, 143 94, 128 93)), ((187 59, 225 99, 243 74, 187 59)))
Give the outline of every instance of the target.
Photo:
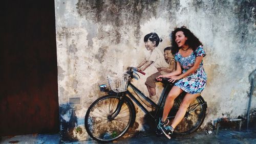
MULTIPOLYGON (((98 85, 106 76, 121 74, 145 57, 143 37, 156 32, 161 50, 170 45, 175 27, 187 26, 203 42, 208 83, 202 95, 208 109, 205 123, 216 118, 244 116, 248 77, 255 64, 256 3, 241 1, 64 1, 55 0, 58 86, 64 140, 87 139, 84 115, 103 95, 98 85), (69 105, 70 97, 81 104, 69 105), (77 130, 80 127, 82 132, 77 130), (80 132, 80 133, 79 133, 80 132)), ((148 75, 135 82, 144 93, 148 75)), ((160 86, 157 92, 160 93, 160 86)), ((256 108, 255 92, 252 108, 256 108)), ((138 110, 135 131, 144 131, 138 110)))

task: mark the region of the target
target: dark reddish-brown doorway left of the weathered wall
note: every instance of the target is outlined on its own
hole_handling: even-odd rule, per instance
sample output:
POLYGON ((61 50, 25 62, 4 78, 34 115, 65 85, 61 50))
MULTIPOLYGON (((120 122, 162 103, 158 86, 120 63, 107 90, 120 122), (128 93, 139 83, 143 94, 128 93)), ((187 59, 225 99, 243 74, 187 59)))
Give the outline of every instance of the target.
POLYGON ((58 132, 54 1, 1 6, 0 135, 58 132))

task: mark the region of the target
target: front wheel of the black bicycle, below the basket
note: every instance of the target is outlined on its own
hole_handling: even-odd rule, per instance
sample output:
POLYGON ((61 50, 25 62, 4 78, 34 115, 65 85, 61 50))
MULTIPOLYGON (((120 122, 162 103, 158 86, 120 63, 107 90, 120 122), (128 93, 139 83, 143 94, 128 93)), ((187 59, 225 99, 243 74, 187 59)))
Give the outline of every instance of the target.
POLYGON ((100 142, 111 142, 118 139, 133 126, 136 111, 133 102, 126 96, 118 115, 111 121, 108 116, 115 110, 120 101, 116 94, 104 95, 94 101, 88 108, 84 125, 88 134, 100 142))

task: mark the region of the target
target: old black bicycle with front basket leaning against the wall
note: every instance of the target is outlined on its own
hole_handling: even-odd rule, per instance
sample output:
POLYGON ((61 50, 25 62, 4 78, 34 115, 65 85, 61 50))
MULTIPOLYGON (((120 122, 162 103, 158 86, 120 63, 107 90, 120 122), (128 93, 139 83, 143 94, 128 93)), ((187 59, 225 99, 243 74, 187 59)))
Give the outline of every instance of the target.
MULTIPOLYGON (((135 77, 133 74, 138 75, 137 72, 145 75, 143 71, 135 67, 128 67, 126 73, 121 78, 108 78, 111 90, 106 89, 106 85, 100 86, 101 90, 108 92, 108 94, 94 101, 88 108, 84 118, 85 128, 93 139, 100 142, 111 142, 125 134, 133 126, 136 118, 135 106, 132 100, 146 114, 150 115, 155 122, 158 121, 158 118, 162 114, 164 100, 173 84, 169 83, 166 78, 162 79, 161 82, 164 84, 164 88, 158 104, 156 104, 131 83, 131 80, 135 77), (150 103, 154 107, 155 112, 148 111, 135 98, 131 90, 127 89, 128 87, 134 90, 139 99, 142 97, 150 103)), ((184 95, 185 92, 181 93, 175 99, 174 106, 167 118, 173 119, 175 117, 184 95)), ((206 109, 207 103, 200 95, 190 104, 184 118, 176 127, 174 134, 187 135, 197 131, 204 121, 206 109)))

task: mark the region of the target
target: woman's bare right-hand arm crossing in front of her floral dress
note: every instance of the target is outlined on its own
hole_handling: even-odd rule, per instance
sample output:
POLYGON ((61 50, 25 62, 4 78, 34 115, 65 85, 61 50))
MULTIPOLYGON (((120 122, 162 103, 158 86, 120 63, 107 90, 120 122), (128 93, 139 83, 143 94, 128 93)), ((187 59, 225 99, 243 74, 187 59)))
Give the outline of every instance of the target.
MULTIPOLYGON (((197 70, 197 68, 199 67, 199 65, 200 65, 202 60, 203 60, 203 56, 196 57, 196 61, 195 61, 194 66, 192 66, 185 73, 183 73, 183 74, 181 74, 179 76, 172 76, 172 77, 170 77, 170 82, 175 82, 176 80, 180 80, 180 79, 182 79, 182 78, 184 78, 184 77, 194 73, 197 70)), ((177 67, 178 67, 178 63, 177 63, 177 67)))

